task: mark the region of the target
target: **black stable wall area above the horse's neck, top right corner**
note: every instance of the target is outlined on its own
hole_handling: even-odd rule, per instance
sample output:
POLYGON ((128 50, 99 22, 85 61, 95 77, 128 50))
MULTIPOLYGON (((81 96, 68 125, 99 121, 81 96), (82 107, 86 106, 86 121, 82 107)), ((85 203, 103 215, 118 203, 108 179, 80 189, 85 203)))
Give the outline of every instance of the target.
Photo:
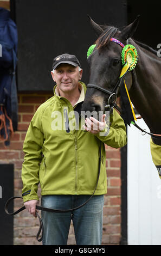
POLYGON ((127 0, 127 23, 131 23, 140 15, 139 25, 133 38, 158 50, 161 44, 160 33, 161 1, 127 0))

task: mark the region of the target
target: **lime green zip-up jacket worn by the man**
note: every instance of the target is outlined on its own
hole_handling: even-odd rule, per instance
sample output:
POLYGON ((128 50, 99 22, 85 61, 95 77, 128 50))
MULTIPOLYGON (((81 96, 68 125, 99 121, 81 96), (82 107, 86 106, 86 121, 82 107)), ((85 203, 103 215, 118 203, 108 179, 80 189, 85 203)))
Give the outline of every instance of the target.
MULTIPOLYGON (((85 84, 80 83, 86 92, 85 84)), ((100 133, 93 135, 81 129, 73 129, 75 126, 73 123, 72 126, 71 122, 74 122, 75 115, 71 113, 73 113, 71 103, 64 97, 54 95, 34 114, 23 144, 25 156, 22 164, 22 195, 24 202, 31 199, 38 200, 39 183, 42 195, 92 194, 98 175, 100 141, 103 142, 101 143, 101 171, 95 195, 107 193, 104 143, 113 148, 126 145, 124 121, 114 110, 110 116, 111 126, 108 135, 100 136, 100 133), (61 114, 65 120, 59 119, 61 114), (66 126, 67 119, 70 124, 69 129, 66 126)), ((82 127, 82 124, 79 124, 79 127, 82 127)))

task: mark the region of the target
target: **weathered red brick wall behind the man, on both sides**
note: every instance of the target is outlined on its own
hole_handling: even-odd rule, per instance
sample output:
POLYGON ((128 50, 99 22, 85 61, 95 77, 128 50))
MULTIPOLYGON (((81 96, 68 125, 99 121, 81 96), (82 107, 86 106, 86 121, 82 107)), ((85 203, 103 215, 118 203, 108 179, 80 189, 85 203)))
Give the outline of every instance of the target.
MULTIPOLYGON (((31 118, 38 106, 48 100, 49 94, 18 94, 18 131, 11 139, 10 146, 4 149, 0 142, 0 163, 14 163, 14 194, 21 196, 22 180, 21 167, 23 162, 23 141, 31 118)), ((121 222, 121 179, 120 179, 120 150, 106 146, 107 153, 107 184, 108 190, 104 205, 104 226, 102 244, 119 244, 121 222)), ((38 194, 40 195, 40 187, 38 194)), ((21 200, 15 200, 15 210, 22 206, 21 200)), ((38 231, 38 220, 27 211, 14 216, 14 244, 40 245, 35 235, 38 231)), ((74 230, 71 225, 68 244, 75 244, 74 230)))

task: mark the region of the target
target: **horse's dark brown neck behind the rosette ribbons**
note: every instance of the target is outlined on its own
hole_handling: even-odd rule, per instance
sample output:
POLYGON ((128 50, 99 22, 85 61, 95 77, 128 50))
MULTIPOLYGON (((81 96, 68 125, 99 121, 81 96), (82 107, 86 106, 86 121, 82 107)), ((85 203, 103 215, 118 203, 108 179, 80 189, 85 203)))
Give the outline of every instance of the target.
POLYGON ((130 89, 131 100, 151 132, 161 133, 161 61, 133 40, 128 43, 138 52, 136 76, 130 89))

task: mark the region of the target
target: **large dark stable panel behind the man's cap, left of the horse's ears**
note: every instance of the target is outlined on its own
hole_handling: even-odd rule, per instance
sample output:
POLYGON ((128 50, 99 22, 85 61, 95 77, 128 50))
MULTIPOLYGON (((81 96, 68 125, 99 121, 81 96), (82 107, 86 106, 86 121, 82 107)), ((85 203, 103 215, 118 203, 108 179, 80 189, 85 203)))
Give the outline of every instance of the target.
POLYGON ((11 0, 18 28, 18 91, 53 91, 52 60, 61 53, 75 54, 88 82, 87 50, 96 36, 87 14, 101 25, 126 25, 124 0, 11 0))

